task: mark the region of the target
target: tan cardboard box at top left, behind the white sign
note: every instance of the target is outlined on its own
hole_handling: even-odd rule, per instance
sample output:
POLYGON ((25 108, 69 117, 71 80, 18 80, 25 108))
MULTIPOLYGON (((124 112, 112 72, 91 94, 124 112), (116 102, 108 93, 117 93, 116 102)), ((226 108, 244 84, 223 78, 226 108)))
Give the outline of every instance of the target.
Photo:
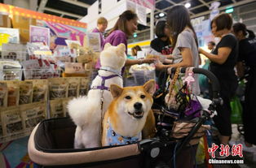
POLYGON ((29 42, 29 25, 37 25, 37 19, 13 15, 12 25, 20 29, 20 41, 29 42))

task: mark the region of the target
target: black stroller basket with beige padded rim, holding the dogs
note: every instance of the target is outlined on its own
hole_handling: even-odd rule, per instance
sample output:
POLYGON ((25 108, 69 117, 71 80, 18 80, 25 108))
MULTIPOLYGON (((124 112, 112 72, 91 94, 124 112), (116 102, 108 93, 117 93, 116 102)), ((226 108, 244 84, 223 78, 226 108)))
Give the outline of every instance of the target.
POLYGON ((43 167, 128 167, 127 162, 128 165, 133 165, 133 162, 139 165, 138 144, 73 149, 75 130, 76 126, 70 118, 44 120, 29 137, 29 157, 43 167))

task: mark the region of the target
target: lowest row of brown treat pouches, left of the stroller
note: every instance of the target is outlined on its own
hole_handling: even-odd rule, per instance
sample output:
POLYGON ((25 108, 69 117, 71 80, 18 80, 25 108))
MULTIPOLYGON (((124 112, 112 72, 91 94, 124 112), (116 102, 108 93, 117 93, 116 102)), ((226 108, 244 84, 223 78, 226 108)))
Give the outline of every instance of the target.
POLYGON ((29 136, 46 119, 46 101, 0 108, 0 143, 29 136))

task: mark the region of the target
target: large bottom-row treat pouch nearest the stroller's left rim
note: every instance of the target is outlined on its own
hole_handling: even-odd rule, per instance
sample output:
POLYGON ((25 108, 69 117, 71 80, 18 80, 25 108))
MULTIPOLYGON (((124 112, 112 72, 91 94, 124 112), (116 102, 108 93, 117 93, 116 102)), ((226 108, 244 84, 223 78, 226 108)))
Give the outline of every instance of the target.
POLYGON ((46 118, 46 102, 36 102, 20 106, 22 125, 25 131, 32 131, 38 123, 46 118))

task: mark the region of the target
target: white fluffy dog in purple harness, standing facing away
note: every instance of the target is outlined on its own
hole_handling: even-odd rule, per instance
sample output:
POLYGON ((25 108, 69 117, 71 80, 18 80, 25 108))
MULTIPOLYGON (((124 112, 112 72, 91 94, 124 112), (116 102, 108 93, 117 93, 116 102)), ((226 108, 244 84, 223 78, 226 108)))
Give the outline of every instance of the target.
POLYGON ((121 68, 126 62, 126 45, 112 46, 107 43, 100 53, 101 66, 92 81, 86 97, 68 102, 68 114, 77 125, 74 148, 95 148, 101 146, 101 123, 113 97, 110 84, 122 87, 121 68))

